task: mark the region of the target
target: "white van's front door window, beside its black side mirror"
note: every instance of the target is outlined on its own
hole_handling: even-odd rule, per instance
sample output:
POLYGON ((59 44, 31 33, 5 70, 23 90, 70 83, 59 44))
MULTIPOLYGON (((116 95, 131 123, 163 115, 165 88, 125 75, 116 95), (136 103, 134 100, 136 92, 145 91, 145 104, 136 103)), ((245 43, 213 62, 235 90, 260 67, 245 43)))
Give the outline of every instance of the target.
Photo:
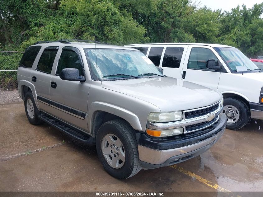
POLYGON ((191 50, 187 68, 210 70, 206 67, 207 60, 209 59, 214 59, 218 63, 217 57, 210 49, 194 47, 191 50))

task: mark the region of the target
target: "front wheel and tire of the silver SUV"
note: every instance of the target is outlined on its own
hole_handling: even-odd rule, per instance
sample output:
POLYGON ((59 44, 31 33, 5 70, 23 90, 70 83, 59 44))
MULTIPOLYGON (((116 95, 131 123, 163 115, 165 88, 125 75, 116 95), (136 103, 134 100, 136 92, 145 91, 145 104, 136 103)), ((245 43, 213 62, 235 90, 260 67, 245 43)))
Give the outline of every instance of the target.
POLYGON ((96 149, 102 166, 115 178, 127 179, 142 169, 134 129, 124 120, 110 120, 101 125, 96 136, 96 149))

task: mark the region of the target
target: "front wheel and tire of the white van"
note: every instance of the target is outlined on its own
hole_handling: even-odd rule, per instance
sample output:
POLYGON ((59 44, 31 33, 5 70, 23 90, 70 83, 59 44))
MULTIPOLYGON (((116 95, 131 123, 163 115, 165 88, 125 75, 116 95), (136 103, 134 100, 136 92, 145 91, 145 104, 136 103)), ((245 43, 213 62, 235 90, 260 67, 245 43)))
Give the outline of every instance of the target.
POLYGON ((227 129, 237 130, 244 127, 250 118, 248 106, 240 100, 225 98, 223 114, 228 118, 227 129))

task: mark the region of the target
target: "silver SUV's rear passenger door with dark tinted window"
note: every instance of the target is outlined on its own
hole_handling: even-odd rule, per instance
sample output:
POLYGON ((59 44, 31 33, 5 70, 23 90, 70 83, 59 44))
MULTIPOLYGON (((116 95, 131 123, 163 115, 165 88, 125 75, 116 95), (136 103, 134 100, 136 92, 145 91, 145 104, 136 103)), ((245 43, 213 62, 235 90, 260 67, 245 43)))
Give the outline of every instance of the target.
POLYGON ((35 86, 39 107, 47 112, 49 112, 51 70, 58 50, 58 46, 45 47, 42 53, 40 52, 36 68, 31 72, 31 81, 35 86))

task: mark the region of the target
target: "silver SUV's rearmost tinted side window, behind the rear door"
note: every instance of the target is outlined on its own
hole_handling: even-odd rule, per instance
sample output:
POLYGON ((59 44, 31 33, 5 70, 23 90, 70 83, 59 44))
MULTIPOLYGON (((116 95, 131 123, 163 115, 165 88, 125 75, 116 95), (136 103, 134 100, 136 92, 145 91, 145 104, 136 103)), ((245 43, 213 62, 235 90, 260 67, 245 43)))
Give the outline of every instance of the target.
POLYGON ((20 60, 19 67, 32 68, 35 58, 40 49, 41 46, 28 47, 20 60))

